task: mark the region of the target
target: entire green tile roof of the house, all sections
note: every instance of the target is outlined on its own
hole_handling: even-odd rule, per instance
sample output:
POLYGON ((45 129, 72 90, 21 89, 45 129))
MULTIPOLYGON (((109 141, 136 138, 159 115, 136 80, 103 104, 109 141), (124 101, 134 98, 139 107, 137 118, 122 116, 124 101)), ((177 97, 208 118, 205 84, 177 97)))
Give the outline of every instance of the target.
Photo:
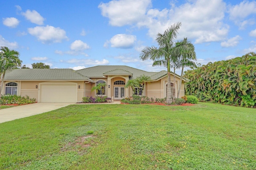
MULTIPOLYGON (((129 75, 135 79, 141 75, 149 76, 151 80, 158 80, 166 76, 167 71, 147 72, 130 66, 93 66, 82 70, 70 68, 18 68, 6 72, 5 80, 88 80, 90 78, 102 78, 107 75, 129 75)), ((179 75, 177 75, 180 77, 179 75)), ((184 81, 189 80, 183 78, 184 81)))

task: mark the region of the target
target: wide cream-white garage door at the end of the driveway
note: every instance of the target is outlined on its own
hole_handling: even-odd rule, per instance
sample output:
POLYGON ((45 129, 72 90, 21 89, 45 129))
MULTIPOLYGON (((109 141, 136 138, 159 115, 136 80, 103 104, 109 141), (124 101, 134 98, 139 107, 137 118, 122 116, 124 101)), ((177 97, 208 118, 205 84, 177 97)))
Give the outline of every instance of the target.
POLYGON ((77 102, 76 84, 42 84, 41 102, 77 102))

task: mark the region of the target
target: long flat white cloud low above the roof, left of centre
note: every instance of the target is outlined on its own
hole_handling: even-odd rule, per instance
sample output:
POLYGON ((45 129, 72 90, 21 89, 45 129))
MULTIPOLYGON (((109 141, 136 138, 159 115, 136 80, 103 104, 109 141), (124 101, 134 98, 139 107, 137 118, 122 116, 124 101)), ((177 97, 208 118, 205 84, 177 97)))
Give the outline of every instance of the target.
POLYGON ((92 60, 92 59, 71 59, 66 61, 66 63, 71 63, 71 64, 77 64, 77 65, 107 65, 109 64, 109 61, 106 59, 103 59, 102 61, 99 60, 92 60))

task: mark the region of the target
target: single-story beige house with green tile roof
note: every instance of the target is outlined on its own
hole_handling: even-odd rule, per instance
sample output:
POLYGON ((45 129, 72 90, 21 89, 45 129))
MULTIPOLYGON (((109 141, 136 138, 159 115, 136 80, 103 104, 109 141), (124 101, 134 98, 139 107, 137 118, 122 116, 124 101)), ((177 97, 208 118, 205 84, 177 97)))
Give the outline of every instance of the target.
MULTIPOLYGON (((72 69, 39 69, 18 68, 6 72, 2 95, 16 94, 36 98, 36 102, 79 102, 84 96, 96 96, 92 87, 98 83, 106 83, 106 86, 98 91, 101 96, 114 97, 120 100, 132 96, 131 88, 124 88, 126 82, 140 75, 150 76, 146 83, 144 94, 136 90, 136 94, 149 98, 165 98, 167 87, 167 72, 146 72, 129 66, 93 66, 82 70, 72 69)), ((173 80, 174 74, 171 74, 173 80)), ((180 76, 176 75, 176 82, 172 81, 172 91, 177 97, 180 76)), ((184 96, 184 82, 180 97, 184 96)))

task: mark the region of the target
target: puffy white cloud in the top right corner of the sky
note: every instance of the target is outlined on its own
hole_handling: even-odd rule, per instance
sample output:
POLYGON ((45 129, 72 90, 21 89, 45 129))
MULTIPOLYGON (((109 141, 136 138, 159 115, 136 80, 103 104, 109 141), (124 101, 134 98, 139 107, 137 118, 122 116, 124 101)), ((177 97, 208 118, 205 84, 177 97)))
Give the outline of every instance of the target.
POLYGON ((254 20, 245 20, 246 17, 251 14, 256 14, 256 1, 249 2, 244 0, 240 2, 240 4, 231 6, 229 9, 230 20, 234 21, 236 25, 239 26, 240 29, 244 29, 247 24, 254 24, 254 20))

